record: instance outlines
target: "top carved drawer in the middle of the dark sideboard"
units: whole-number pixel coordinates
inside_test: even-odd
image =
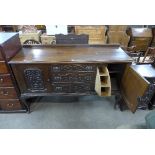
[[[92,64],[63,64],[52,65],[52,72],[93,72],[96,71],[96,66]]]

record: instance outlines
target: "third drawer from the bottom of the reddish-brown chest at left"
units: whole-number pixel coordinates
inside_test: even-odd
[[[0,87],[9,87],[12,85],[12,80],[9,74],[0,75]]]

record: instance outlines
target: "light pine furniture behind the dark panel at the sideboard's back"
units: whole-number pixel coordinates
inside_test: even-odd
[[[89,35],[89,44],[106,44],[105,26],[75,26],[75,34],[87,34]]]

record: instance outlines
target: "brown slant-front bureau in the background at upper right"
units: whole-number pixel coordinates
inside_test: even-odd
[[[129,46],[136,46],[136,51],[144,52],[151,44],[152,30],[149,28],[130,28]]]

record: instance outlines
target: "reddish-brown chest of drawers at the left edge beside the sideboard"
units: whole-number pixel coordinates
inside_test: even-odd
[[[0,32],[0,112],[26,112],[8,65],[21,48],[17,33]]]

